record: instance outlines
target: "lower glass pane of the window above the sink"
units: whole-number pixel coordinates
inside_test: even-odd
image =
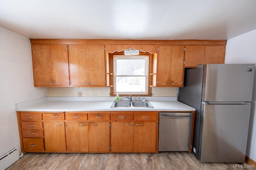
[[[116,77],[116,92],[146,92],[146,77],[145,76],[118,76]]]

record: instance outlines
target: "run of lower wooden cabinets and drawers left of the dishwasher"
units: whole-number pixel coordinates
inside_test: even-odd
[[[17,117],[22,152],[157,152],[157,111],[18,111]]]

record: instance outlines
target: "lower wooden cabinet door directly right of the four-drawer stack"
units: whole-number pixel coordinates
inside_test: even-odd
[[[64,121],[44,122],[44,144],[46,152],[66,151]]]

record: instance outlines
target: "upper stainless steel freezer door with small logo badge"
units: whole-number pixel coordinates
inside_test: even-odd
[[[251,102],[255,64],[205,64],[202,101]]]

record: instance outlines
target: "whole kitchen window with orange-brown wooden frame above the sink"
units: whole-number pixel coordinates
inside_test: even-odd
[[[108,68],[110,75],[108,86],[110,96],[152,96],[151,87],[152,57],[151,53],[124,55],[115,52],[109,55]]]

